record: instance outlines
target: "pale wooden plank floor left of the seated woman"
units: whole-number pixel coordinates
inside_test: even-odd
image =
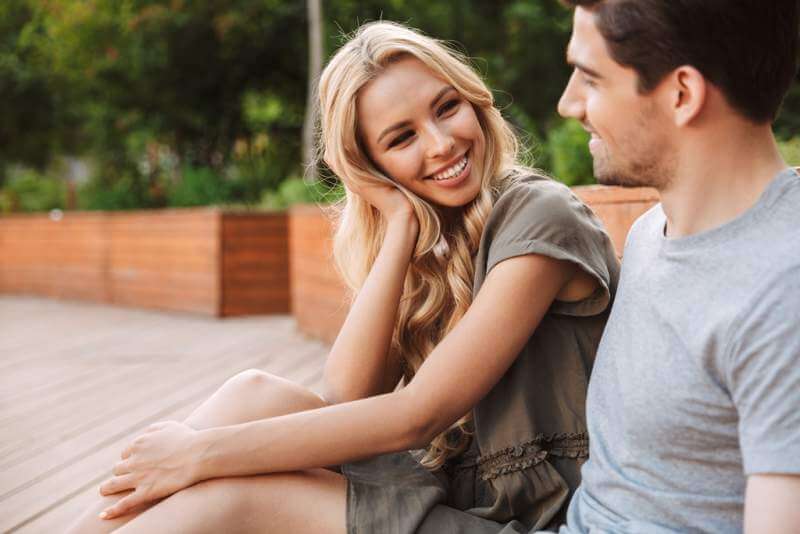
[[[288,316],[217,320],[0,296],[0,532],[59,532],[122,447],[235,373],[317,390],[327,347]]]

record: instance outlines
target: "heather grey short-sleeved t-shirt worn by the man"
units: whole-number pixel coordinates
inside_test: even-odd
[[[800,175],[713,230],[633,226],[589,384],[575,532],[738,532],[747,475],[800,474]]]

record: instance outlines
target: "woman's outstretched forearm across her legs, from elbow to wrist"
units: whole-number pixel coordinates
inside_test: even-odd
[[[401,390],[200,431],[195,448],[197,478],[333,466],[424,446],[426,428],[413,404]]]

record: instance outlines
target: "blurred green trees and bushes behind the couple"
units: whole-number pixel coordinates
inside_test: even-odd
[[[570,31],[556,0],[2,0],[0,213],[335,197],[302,178],[309,7],[320,3],[323,60],[377,19],[452,41],[529,163],[592,183],[586,133],[555,113]],[[800,164],[800,82],[775,131]]]

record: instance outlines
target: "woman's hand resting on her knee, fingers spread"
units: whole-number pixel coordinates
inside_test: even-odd
[[[155,423],[122,451],[113,478],[100,486],[101,495],[133,490],[104,510],[113,519],[143,505],[169,497],[199,482],[197,431],[176,421]]]

